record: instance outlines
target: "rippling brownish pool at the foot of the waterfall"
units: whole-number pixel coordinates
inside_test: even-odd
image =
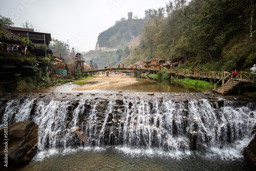
[[[52,155],[40,160],[38,157],[45,155],[45,152],[41,152],[30,164],[17,170],[249,170],[243,159],[227,160],[221,159],[221,156],[199,154],[173,157],[171,153],[154,155],[154,152],[141,155],[140,149],[131,155],[126,154],[125,150],[119,147],[84,147],[78,151],[66,149],[57,152],[53,149],[50,152]]]

